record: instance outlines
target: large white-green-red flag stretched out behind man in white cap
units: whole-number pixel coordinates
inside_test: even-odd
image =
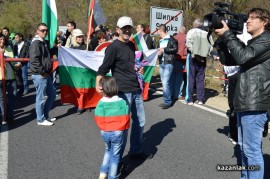
[[[61,102],[79,108],[95,107],[101,96],[96,92],[96,72],[104,59],[104,51],[85,51],[61,47],[58,51]],[[144,51],[148,66],[144,67],[144,99],[154,72],[157,50]],[[134,54],[135,55],[135,54]]]

